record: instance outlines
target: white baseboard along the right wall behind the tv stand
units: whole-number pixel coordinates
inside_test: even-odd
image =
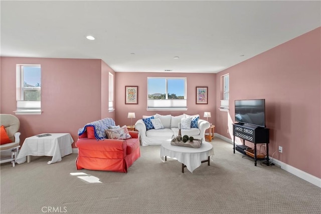
[[[231,143],[233,144],[233,141],[227,137],[224,137],[223,135],[220,135],[220,134],[217,134],[215,133],[214,134],[216,137],[228,142],[228,143]],[[272,158],[270,157],[270,160],[272,160]],[[310,182],[318,187],[321,188],[321,178],[318,178],[318,177],[315,177],[314,175],[311,175],[309,173],[306,173],[300,169],[297,169],[291,165],[288,165],[286,163],[283,163],[282,161],[279,161],[275,158],[273,158],[272,162],[275,164],[275,165],[278,165],[280,166],[281,169],[291,173],[291,174],[294,174],[295,176],[299,177],[299,178],[302,178],[303,180],[306,180],[307,182]]]

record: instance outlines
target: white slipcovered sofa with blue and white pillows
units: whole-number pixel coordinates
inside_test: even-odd
[[[182,114],[179,116],[172,116],[172,115],[153,115],[154,118],[159,118],[164,125],[164,129],[146,129],[145,122],[143,119],[139,119],[135,123],[135,129],[139,131],[141,145],[160,145],[165,140],[172,139],[172,136],[177,136],[179,129],[178,124],[181,122],[182,119],[187,117],[195,117],[199,115],[187,115]],[[143,116],[143,118],[147,118],[151,116]],[[197,128],[190,128],[190,129],[181,129],[182,136],[187,134],[188,136],[193,136],[196,139],[205,140],[205,131],[206,129],[210,128],[210,123],[206,120],[198,119]]]

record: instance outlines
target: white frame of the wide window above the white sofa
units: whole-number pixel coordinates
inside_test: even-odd
[[[148,99],[148,80],[149,79],[165,79],[166,91],[165,100],[149,100]],[[184,79],[184,99],[168,99],[168,80]],[[187,78],[186,77],[147,77],[147,111],[186,111],[187,110]]]

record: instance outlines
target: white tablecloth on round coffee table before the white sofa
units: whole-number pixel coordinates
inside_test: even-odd
[[[214,155],[213,146],[205,141],[202,142],[200,148],[173,146],[170,140],[161,145],[161,158],[163,161],[165,156],[175,157],[179,162],[184,163],[192,173],[194,169],[201,165],[201,161],[207,160],[211,155]]]

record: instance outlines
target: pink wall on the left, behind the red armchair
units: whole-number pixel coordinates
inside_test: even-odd
[[[86,123],[114,117],[108,107],[108,71],[101,60],[1,57],[1,108],[16,110],[16,64],[41,65],[41,115],[16,115],[21,141],[40,133],[69,132],[74,141]],[[107,73],[107,75],[106,75]],[[107,78],[107,83],[102,79]],[[107,88],[106,91],[102,91]],[[107,97],[107,104],[105,103]],[[104,103],[103,103],[104,102]],[[74,147],[74,145],[73,145]]]

